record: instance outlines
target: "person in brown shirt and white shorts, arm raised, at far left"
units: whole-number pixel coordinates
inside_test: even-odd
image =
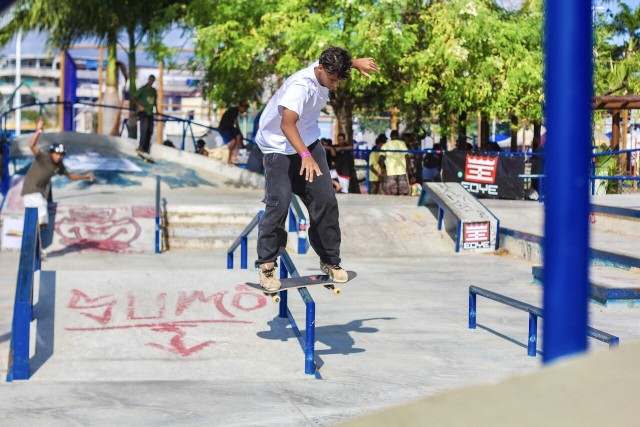
[[[52,144],[48,152],[44,152],[36,146],[43,129],[44,121],[42,118],[39,118],[36,125],[36,132],[33,134],[31,141],[29,141],[29,148],[35,158],[24,178],[21,193],[26,208],[38,208],[38,224],[40,224],[40,229],[46,228],[47,224],[49,224],[47,193],[51,185],[51,178],[54,175],[64,175],[74,181],[88,180],[93,182],[92,173],[77,175],[69,172],[67,168],[64,167],[62,158],[66,152],[63,144]],[[43,255],[46,255],[44,251]]]

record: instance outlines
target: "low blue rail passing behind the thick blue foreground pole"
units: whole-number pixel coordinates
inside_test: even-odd
[[[469,329],[476,329],[477,295],[529,313],[529,338],[527,344],[527,355],[530,357],[535,357],[537,351],[536,346],[538,343],[538,318],[544,318],[544,311],[539,307],[535,307],[531,304],[518,301],[505,295],[501,295],[487,289],[479,288],[477,286],[469,286]],[[587,328],[587,335],[591,338],[595,338],[599,341],[609,344],[610,348],[616,347],[620,343],[620,339],[618,337],[600,331],[598,329],[594,329],[590,326]]]

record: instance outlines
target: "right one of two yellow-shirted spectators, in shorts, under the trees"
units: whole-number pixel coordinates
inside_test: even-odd
[[[380,155],[380,165],[384,165],[384,180],[382,181],[382,190],[388,195],[409,194],[409,179],[407,178],[407,170],[409,168],[409,156],[407,153],[385,153],[385,150],[406,151],[407,144],[398,139],[398,131],[391,131],[391,141],[382,146]]]

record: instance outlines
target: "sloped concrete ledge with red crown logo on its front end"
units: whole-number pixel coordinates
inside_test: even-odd
[[[456,252],[497,249],[498,218],[459,183],[425,184],[421,203],[437,206],[438,228],[444,226],[454,240]]]

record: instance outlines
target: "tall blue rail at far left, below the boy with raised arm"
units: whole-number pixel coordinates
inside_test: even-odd
[[[11,324],[11,345],[7,381],[28,380],[29,342],[33,320],[34,273],[40,270],[40,229],[38,209],[27,208],[24,216],[20,265]]]

